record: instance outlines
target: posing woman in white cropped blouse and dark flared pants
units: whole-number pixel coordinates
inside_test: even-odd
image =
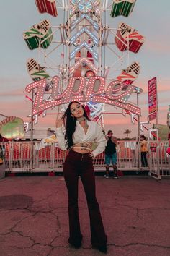
[[[63,125],[66,133],[63,133]],[[91,244],[100,252],[107,252],[107,236],[95,195],[95,179],[93,158],[102,153],[106,146],[106,139],[102,129],[94,121],[90,121],[84,106],[78,101],[68,105],[61,120],[56,121],[56,135],[58,146],[62,150],[69,150],[63,166],[63,175],[68,189],[68,216],[69,216],[69,244],[75,248],[81,247],[82,234],[79,223],[78,210],[78,180],[84,186],[89,208]],[[93,142],[97,148],[91,151]]]

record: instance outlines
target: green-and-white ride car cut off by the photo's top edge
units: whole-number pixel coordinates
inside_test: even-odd
[[[136,0],[113,0],[111,17],[117,17],[119,15],[128,17],[133,12]]]

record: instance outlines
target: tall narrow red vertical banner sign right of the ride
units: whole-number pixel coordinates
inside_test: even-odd
[[[151,80],[148,81],[148,119],[150,121],[156,119],[157,111],[157,85],[156,77],[153,77]]]

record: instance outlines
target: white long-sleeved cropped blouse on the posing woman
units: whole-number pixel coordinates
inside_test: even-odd
[[[92,151],[95,157],[105,150],[107,140],[97,122],[87,120],[87,124],[88,129],[85,134],[84,128],[81,127],[79,121],[76,121],[76,130],[73,133],[73,144],[82,142],[97,142],[97,148]],[[58,127],[56,129],[56,135],[58,138],[58,147],[62,150],[66,150],[66,140],[64,138],[65,131],[63,130],[63,127]]]

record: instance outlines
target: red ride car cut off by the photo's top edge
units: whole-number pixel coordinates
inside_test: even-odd
[[[35,0],[35,4],[40,13],[47,12],[48,14],[57,17],[58,12],[55,0]]]

